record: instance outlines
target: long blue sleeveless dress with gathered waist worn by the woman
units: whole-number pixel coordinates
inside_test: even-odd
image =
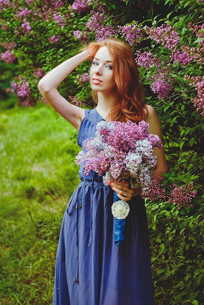
[[[78,145],[94,136],[103,120],[85,110]],[[96,172],[84,175],[62,221],[56,255],[53,305],[153,305],[147,216],[144,200],[129,201],[125,239],[114,243],[113,191]]]

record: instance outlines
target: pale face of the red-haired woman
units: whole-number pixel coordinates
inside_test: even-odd
[[[112,92],[116,87],[112,73],[112,60],[107,47],[101,47],[93,58],[90,84],[92,90],[98,92]]]

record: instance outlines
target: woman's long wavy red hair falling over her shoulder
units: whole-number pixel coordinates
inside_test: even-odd
[[[94,58],[98,49],[104,46],[108,48],[111,56],[116,83],[115,100],[106,119],[121,122],[131,120],[138,123],[146,118],[147,107],[132,49],[125,42],[114,38],[91,42],[86,48],[92,49]],[[97,92],[93,92],[93,99],[97,103]]]

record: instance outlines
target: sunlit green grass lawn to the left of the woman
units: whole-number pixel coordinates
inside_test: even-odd
[[[60,224],[79,181],[75,137],[48,105],[0,113],[0,305],[52,304]]]

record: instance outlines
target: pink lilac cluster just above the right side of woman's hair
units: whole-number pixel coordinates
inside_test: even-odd
[[[118,25],[119,33],[125,36],[127,42],[130,43],[131,46],[135,44],[135,40],[140,42],[140,39],[143,37],[141,33],[141,28],[138,26],[138,21],[135,24],[129,25]]]

